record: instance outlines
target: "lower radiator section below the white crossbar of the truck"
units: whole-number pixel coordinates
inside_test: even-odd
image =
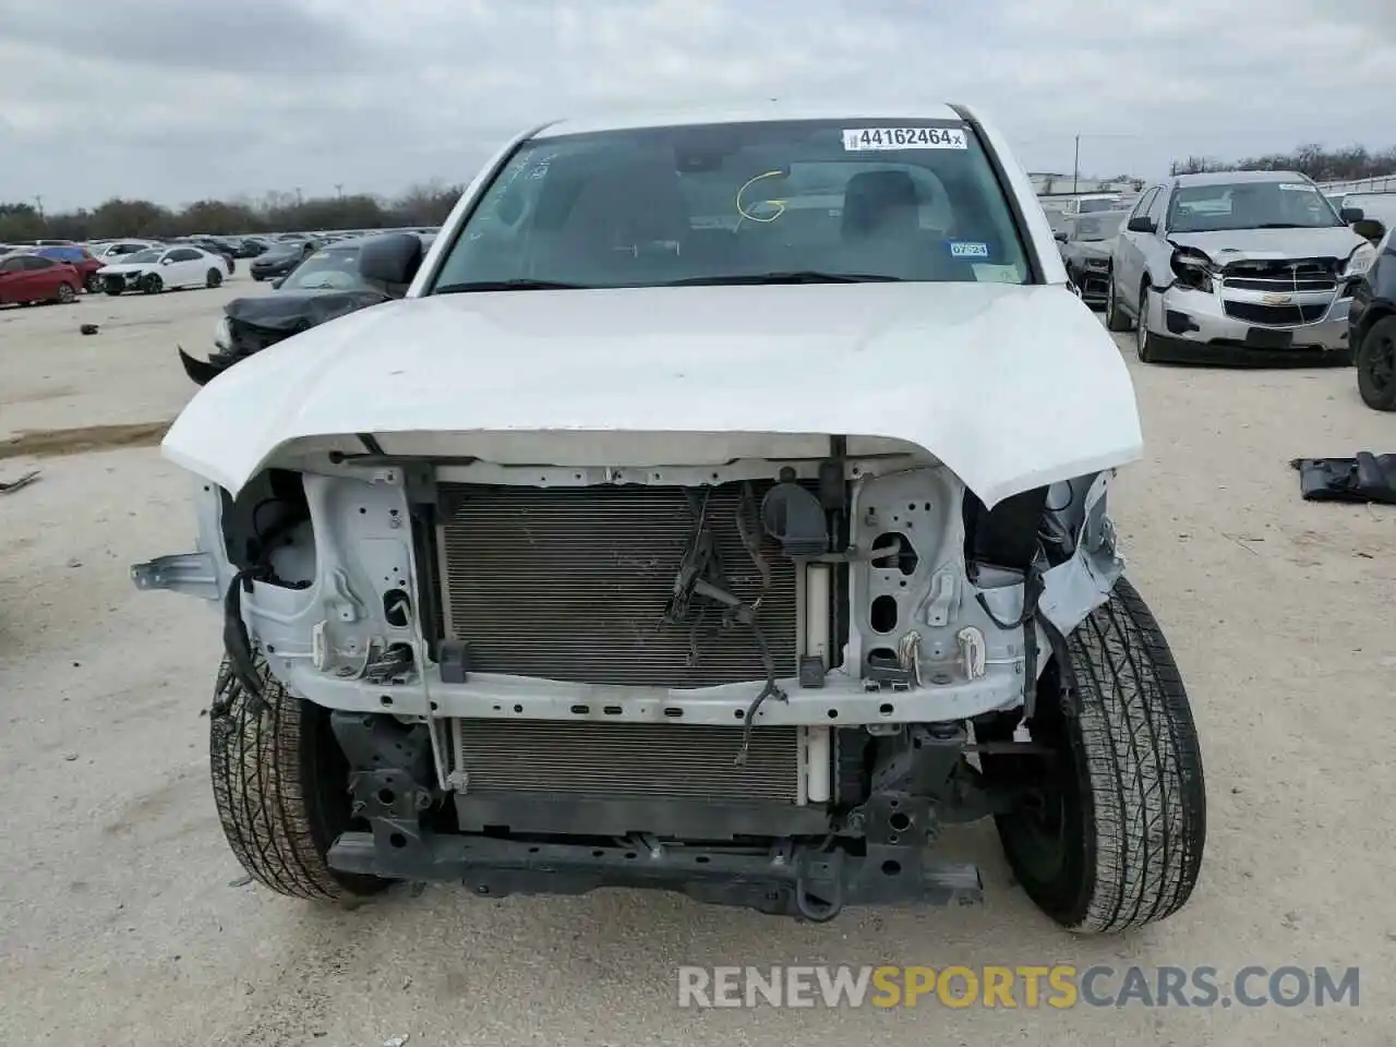
[[[799,727],[757,727],[744,766],[740,727],[455,719],[447,736],[447,771],[463,772],[468,794],[799,803]]]

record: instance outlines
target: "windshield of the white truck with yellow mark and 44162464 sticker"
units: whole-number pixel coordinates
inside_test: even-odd
[[[1023,283],[988,158],[949,121],[554,135],[484,190],[431,293],[804,281]]]

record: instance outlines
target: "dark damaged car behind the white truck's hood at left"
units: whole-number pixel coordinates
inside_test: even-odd
[[[198,385],[222,374],[239,360],[327,320],[402,297],[406,285],[369,281],[359,271],[359,253],[376,237],[325,244],[292,269],[272,281],[275,293],[233,299],[214,332],[214,352],[198,360],[181,348],[184,373]],[[433,237],[420,237],[423,248]]]

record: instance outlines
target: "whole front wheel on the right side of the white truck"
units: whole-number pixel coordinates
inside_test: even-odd
[[[1087,934],[1181,909],[1206,840],[1202,752],[1168,644],[1127,579],[1048,659],[1029,730],[1050,757],[981,757],[991,783],[1023,790],[995,822],[1027,896]]]

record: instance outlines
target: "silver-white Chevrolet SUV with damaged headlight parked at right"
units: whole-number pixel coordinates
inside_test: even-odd
[[[1146,362],[1351,363],[1349,307],[1374,255],[1302,174],[1180,174],[1129,214],[1106,322],[1134,325]]]

